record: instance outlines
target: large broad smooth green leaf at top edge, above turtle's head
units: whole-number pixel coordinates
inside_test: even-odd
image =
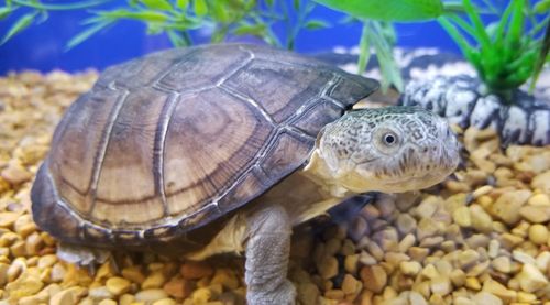
[[[421,21],[443,14],[441,0],[314,0],[361,19]]]

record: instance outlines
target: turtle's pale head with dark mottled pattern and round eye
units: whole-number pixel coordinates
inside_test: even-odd
[[[324,127],[316,152],[324,178],[354,193],[403,193],[443,181],[457,167],[448,122],[419,107],[348,112]]]

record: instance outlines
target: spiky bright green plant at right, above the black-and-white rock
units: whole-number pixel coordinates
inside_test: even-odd
[[[492,11],[497,11],[485,1]],[[475,67],[488,92],[512,102],[512,91],[532,78],[531,89],[544,62],[548,62],[550,17],[540,21],[538,13],[548,12],[550,1],[536,7],[528,0],[512,0],[499,13],[499,20],[485,25],[471,0],[463,0],[466,18],[447,15],[439,23]]]

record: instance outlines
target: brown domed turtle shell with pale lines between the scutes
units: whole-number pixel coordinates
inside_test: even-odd
[[[32,188],[69,242],[172,240],[250,203],[307,161],[374,80],[266,46],[154,53],[106,69],[67,110]]]

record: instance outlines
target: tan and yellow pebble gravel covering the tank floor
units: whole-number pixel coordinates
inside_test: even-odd
[[[37,165],[64,109],[96,78],[0,78],[0,304],[244,304],[242,258],[117,253],[89,273],[59,261],[56,240],[33,224]],[[300,304],[550,304],[550,146],[502,150],[493,130],[457,132],[464,162],[442,185],[295,230]]]

